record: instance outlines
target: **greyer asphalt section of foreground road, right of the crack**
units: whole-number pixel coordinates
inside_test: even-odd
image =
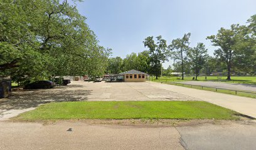
[[[226,124],[178,128],[185,149],[240,150],[256,148],[256,126]]]

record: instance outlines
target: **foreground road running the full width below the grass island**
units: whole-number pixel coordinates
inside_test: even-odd
[[[182,126],[0,121],[0,149],[255,149],[256,124],[216,121]],[[67,131],[72,128],[72,131]]]

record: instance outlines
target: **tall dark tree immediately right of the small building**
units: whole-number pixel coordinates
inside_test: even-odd
[[[158,79],[161,74],[161,64],[168,61],[169,51],[167,49],[166,40],[162,36],[156,37],[155,43],[153,36],[149,36],[143,41],[144,46],[149,48],[149,61],[151,66],[151,73]]]

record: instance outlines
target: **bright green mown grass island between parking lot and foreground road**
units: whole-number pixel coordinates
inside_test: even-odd
[[[238,119],[235,114],[203,101],[83,101],[43,104],[13,119]]]

